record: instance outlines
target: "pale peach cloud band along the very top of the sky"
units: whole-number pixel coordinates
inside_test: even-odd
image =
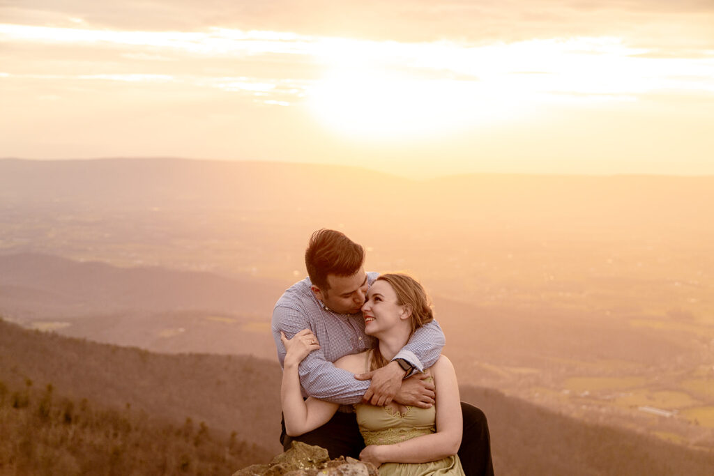
[[[231,29],[469,43],[620,36],[635,44],[714,49],[710,0],[14,0],[8,23],[134,31]]]

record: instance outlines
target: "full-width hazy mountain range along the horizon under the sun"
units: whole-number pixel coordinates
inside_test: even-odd
[[[441,222],[453,213],[488,218],[691,218],[711,203],[714,176],[557,176],[471,173],[416,181],[366,168],[175,158],[26,161],[0,159],[0,203],[147,210],[298,208],[366,216],[371,207]],[[448,208],[445,206],[448,205]],[[347,208],[346,208],[347,207]],[[386,207],[386,208],[385,208]],[[527,207],[528,210],[523,208]],[[527,213],[523,213],[527,212]],[[678,213],[675,215],[674,213]],[[684,216],[682,216],[684,214]],[[565,225],[565,223],[563,223]]]

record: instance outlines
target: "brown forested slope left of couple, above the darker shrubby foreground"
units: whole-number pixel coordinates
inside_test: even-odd
[[[280,449],[277,363],[249,356],[163,355],[25,330],[0,321],[0,380],[52,385],[76,402],[125,408]]]

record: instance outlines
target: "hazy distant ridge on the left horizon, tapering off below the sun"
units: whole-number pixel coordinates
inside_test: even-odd
[[[342,180],[336,180],[341,178]],[[0,201],[85,203],[88,207],[258,208],[307,205],[334,196],[337,203],[366,198],[363,186],[387,191],[411,181],[362,168],[302,163],[100,159],[0,159]],[[306,186],[312,184],[313,186]],[[336,203],[322,203],[334,208]]]

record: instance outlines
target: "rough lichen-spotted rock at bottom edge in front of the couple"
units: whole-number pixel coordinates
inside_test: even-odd
[[[351,457],[331,460],[327,450],[319,446],[293,441],[293,446],[277,455],[267,465],[251,465],[233,476],[378,476],[371,463]]]

